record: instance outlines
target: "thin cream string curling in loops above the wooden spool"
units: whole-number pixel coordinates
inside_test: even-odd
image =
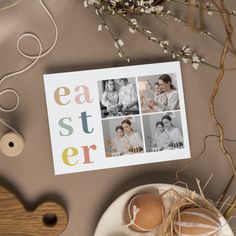
[[[6,10],[6,9],[9,9],[13,6],[16,6],[17,4],[19,4],[22,0],[19,0],[17,2],[15,2],[14,4],[12,5],[9,5],[7,7],[4,7],[4,8],[1,8],[1,10]],[[50,18],[50,20],[52,21],[53,25],[54,25],[54,28],[55,28],[55,38],[53,40],[53,43],[52,45],[45,51],[43,52],[43,46],[42,46],[42,42],[40,40],[40,38],[33,34],[33,33],[24,33],[22,34],[18,40],[17,40],[17,50],[18,52],[24,57],[24,58],[27,58],[27,59],[33,59],[33,61],[27,65],[26,67],[24,67],[23,69],[21,70],[18,70],[18,71],[15,71],[15,72],[12,72],[10,74],[7,74],[5,76],[3,76],[1,79],[0,79],[0,87],[1,85],[3,84],[4,81],[6,81],[7,79],[13,77],[13,76],[16,76],[16,75],[20,75],[26,71],[28,71],[29,69],[31,69],[37,62],[40,58],[48,55],[52,50],[53,48],[55,47],[57,41],[58,41],[58,27],[57,27],[57,24],[56,24],[56,21],[54,20],[52,14],[50,14],[49,10],[47,9],[47,7],[44,5],[44,3],[42,2],[42,0],[38,0],[40,5],[42,6],[42,8],[44,9],[44,11],[46,12],[46,14],[48,15],[48,17]],[[29,54],[26,54],[21,48],[20,48],[20,42],[24,39],[24,38],[32,38],[34,40],[36,40],[37,44],[38,44],[38,47],[39,47],[39,52],[38,54],[36,55],[29,55]],[[0,91],[0,96],[3,95],[3,94],[6,94],[6,93],[12,93],[15,95],[16,97],[16,103],[13,107],[10,107],[10,108],[5,108],[4,106],[0,105],[0,111],[4,111],[4,112],[12,112],[14,110],[16,110],[19,106],[19,102],[20,102],[20,96],[18,94],[17,91],[15,91],[14,89],[11,89],[11,88],[7,88],[7,89],[3,89],[2,91]],[[3,119],[0,118],[0,123],[2,123],[4,126],[6,126],[7,128],[11,129],[13,132],[17,133],[18,132],[12,127],[10,126],[9,124],[7,124],[5,121],[3,121]]]

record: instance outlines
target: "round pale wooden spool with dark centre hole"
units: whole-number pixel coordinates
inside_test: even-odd
[[[9,157],[18,156],[24,149],[24,138],[13,131],[4,134],[0,140],[2,153]]]

